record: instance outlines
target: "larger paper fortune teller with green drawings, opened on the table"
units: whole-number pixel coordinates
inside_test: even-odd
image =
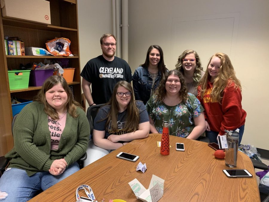
[[[163,196],[164,180],[152,175],[149,189],[146,189],[136,178],[128,183],[136,198],[144,202],[157,202]]]

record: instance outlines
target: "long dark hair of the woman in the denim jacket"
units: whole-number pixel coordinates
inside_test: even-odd
[[[156,48],[160,52],[160,61],[158,63],[158,71],[161,72],[161,76],[163,77],[163,75],[165,75],[165,73],[166,73],[166,67],[165,67],[164,60],[163,60],[163,50],[162,50],[161,46],[159,46],[159,45],[149,46],[149,49],[148,49],[147,55],[146,55],[145,63],[141,64],[140,66],[142,66],[143,68],[149,67],[149,53],[150,53],[150,51],[152,51],[153,48]]]

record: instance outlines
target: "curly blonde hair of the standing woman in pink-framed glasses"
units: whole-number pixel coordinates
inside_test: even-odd
[[[182,59],[184,59],[186,57],[187,54],[191,54],[193,53],[195,56],[195,60],[196,60],[196,66],[194,69],[194,76],[193,76],[193,80],[198,83],[201,79],[201,72],[203,71],[203,67],[201,64],[201,60],[199,55],[197,54],[196,51],[194,50],[186,50],[184,51],[179,57],[178,57],[178,63],[176,64],[176,69],[178,71],[180,71],[183,75],[184,75],[184,69],[182,68]]]

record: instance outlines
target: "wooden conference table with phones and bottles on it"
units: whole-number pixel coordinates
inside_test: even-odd
[[[137,180],[148,189],[152,174],[161,177],[164,193],[161,201],[260,201],[255,171],[250,158],[238,152],[237,169],[247,169],[252,178],[228,178],[223,173],[224,160],[215,159],[214,150],[207,143],[170,136],[170,154],[163,156],[157,141],[161,134],[134,140],[93,162],[80,171],[57,183],[31,200],[76,201],[79,185],[89,185],[97,201],[123,199],[140,201],[132,192],[129,182]],[[176,142],[185,144],[185,151],[176,151]],[[116,158],[119,152],[140,156],[136,162]],[[146,163],[145,173],[136,171],[139,162]],[[86,196],[83,190],[80,196]]]

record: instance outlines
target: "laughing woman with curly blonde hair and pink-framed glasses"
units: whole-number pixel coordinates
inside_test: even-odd
[[[186,50],[178,57],[176,69],[183,74],[187,91],[197,96],[197,86],[204,76],[199,55],[194,50]]]

